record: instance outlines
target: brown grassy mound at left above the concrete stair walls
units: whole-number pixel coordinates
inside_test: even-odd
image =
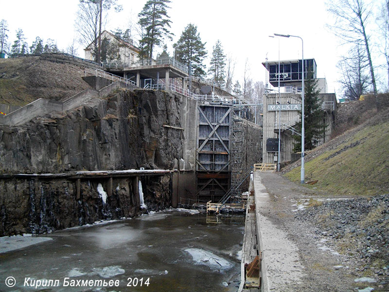
[[[0,103],[24,106],[38,98],[65,100],[89,88],[93,69],[54,63],[39,56],[0,59]]]

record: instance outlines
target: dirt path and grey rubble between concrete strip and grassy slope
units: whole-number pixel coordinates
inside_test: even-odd
[[[299,248],[299,291],[389,291],[389,195],[339,198],[261,173],[268,217]]]

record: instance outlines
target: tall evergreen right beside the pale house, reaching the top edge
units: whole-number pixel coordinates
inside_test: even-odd
[[[138,14],[139,24],[143,30],[141,45],[141,57],[151,59],[155,46],[159,46],[167,37],[172,40],[173,34],[169,32],[172,22],[167,15],[167,3],[170,0],[148,0],[144,4],[142,11]]]

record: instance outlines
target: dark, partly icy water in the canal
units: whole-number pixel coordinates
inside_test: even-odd
[[[45,236],[52,240],[0,254],[0,291],[237,291],[244,220],[215,221],[164,211],[55,232]],[[12,288],[8,276],[16,280]],[[29,286],[59,285],[35,289],[26,279]],[[96,280],[115,284],[94,286]],[[77,286],[82,281],[93,284]]]

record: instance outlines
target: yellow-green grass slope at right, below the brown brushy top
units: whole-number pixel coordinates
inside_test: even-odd
[[[305,164],[305,181],[318,180],[312,187],[338,195],[388,193],[388,116],[387,112],[381,112],[354,130],[336,137],[344,141]],[[298,183],[300,170],[300,167],[295,167],[285,176]]]

